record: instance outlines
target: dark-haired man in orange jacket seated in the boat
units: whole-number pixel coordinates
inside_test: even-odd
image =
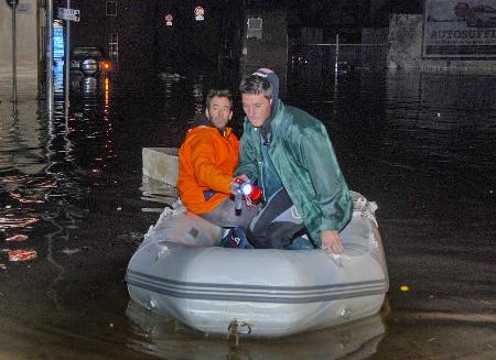
[[[188,211],[224,228],[246,228],[257,211],[245,203],[236,211],[229,198],[239,160],[239,140],[227,127],[231,118],[230,91],[212,89],[205,116],[196,114],[179,151],[177,189]]]

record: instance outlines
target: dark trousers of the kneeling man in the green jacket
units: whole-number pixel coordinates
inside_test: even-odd
[[[303,233],[303,220],[282,187],[252,219],[247,237],[258,249],[288,249]]]

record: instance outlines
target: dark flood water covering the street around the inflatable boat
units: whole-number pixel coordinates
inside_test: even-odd
[[[289,74],[285,102],[327,126],[349,187],[379,206],[379,315],[235,347],[130,304],[127,263],[175,196],[142,177],[141,149],[177,146],[209,86],[236,86],[223,76],[110,79],[52,120],[30,94],[14,119],[2,79],[0,359],[496,358],[496,75]]]

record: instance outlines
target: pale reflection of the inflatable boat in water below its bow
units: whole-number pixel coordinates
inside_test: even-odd
[[[379,315],[321,331],[281,339],[241,338],[238,347],[225,337],[208,337],[172,318],[152,314],[130,302],[127,316],[133,334],[127,346],[159,358],[188,359],[366,359],[385,335]]]

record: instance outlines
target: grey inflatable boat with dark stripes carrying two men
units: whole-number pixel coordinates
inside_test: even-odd
[[[377,206],[352,196],[339,255],[220,248],[222,228],[166,208],[129,262],[129,294],[208,334],[281,337],[377,314],[389,287]]]

